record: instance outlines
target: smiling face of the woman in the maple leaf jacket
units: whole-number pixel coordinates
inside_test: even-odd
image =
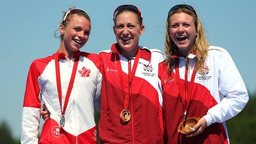
[[[84,16],[73,14],[68,25],[60,25],[59,31],[63,34],[62,43],[64,44],[60,49],[64,49],[68,53],[73,53],[82,48],[89,39],[91,32],[91,22]]]

